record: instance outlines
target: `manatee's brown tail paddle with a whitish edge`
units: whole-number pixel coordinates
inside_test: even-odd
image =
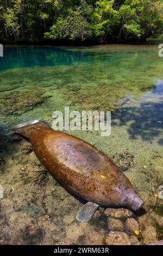
[[[28,123],[19,124],[17,126],[12,127],[18,135],[25,137],[26,139],[30,139],[33,131],[35,129],[49,128],[49,125],[43,120],[33,120]]]

